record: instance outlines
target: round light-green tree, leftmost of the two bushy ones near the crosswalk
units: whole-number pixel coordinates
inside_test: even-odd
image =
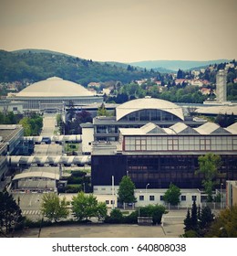
[[[60,199],[55,193],[45,194],[41,211],[47,219],[54,220],[55,222],[62,218],[66,219],[69,214],[66,197]]]

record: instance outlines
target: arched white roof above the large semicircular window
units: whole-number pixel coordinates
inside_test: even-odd
[[[181,120],[184,120],[183,112],[180,106],[170,102],[164,101],[160,99],[153,99],[153,98],[143,98],[137,99],[133,101],[125,102],[119,105],[116,109],[116,118],[117,121],[124,117],[125,115],[131,112],[137,112],[140,110],[160,110],[164,112],[170,112],[178,116]]]

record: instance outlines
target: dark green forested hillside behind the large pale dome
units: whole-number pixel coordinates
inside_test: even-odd
[[[118,67],[50,51],[7,52],[0,50],[0,82],[15,80],[35,82],[57,76],[86,86],[91,81],[119,80],[127,83],[154,75],[156,73],[153,71],[136,69],[131,66]]]

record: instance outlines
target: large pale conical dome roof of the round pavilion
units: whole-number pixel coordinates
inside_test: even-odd
[[[16,94],[16,97],[77,97],[93,96],[83,86],[57,77],[41,80],[31,84]]]

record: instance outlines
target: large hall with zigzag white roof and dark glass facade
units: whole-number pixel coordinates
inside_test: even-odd
[[[175,123],[161,128],[147,123],[140,128],[119,129],[119,143],[94,143],[91,153],[92,186],[102,190],[118,186],[122,176],[130,176],[137,188],[201,188],[196,175],[200,155],[221,155],[221,176],[217,184],[237,179],[237,123],[222,128],[204,123],[192,128]]]

